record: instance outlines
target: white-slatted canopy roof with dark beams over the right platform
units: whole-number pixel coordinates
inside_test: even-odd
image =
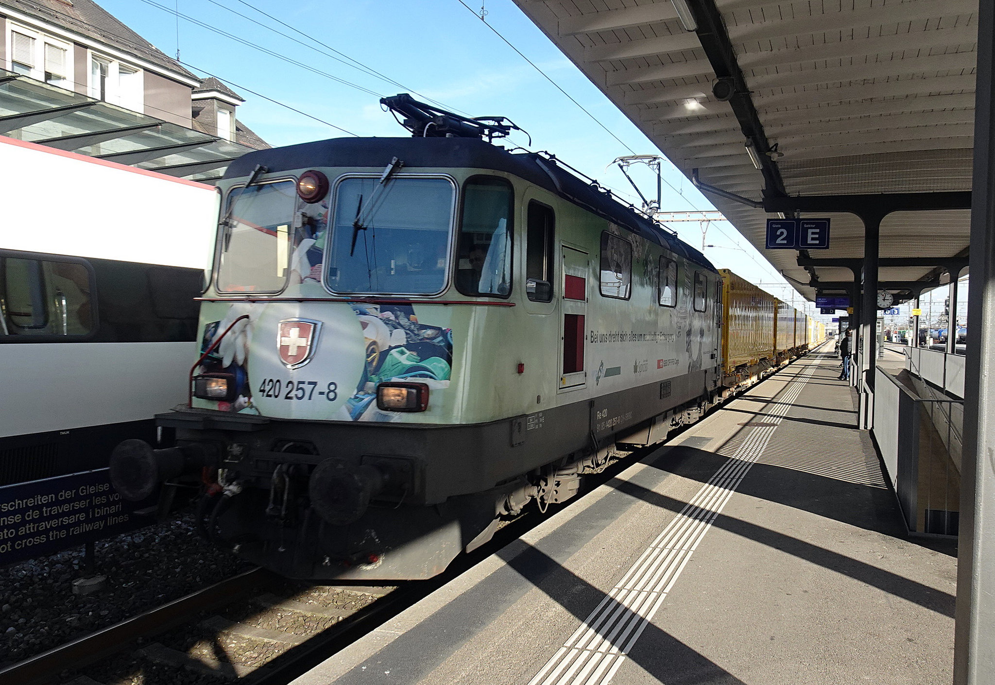
[[[807,297],[855,262],[799,258],[864,256],[845,210],[875,198],[846,196],[902,209],[881,223],[881,281],[966,257],[978,0],[515,2],[689,178],[762,202],[706,193]],[[798,197],[802,218],[832,219],[830,248],[765,250],[766,219]]]

